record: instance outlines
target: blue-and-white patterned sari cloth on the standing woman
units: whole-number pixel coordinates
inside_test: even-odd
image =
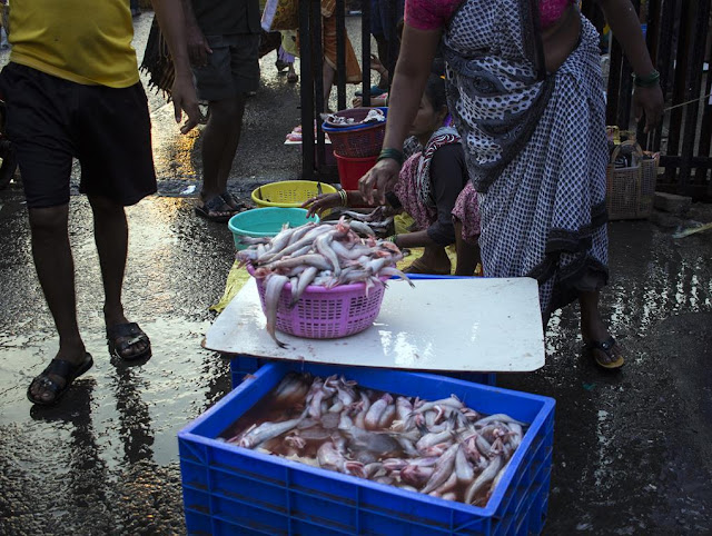
[[[551,86],[541,99],[532,93],[534,86],[516,86],[517,80],[531,81],[534,76],[533,70],[512,67],[526,66],[531,53],[522,41],[522,24],[503,26],[506,20],[496,11],[513,9],[515,3],[468,0],[455,16],[445,36],[451,56],[457,47],[461,60],[469,64],[469,75],[475,72],[472,58],[482,58],[475,62],[477,79],[472,83],[462,61],[454,69],[448,66],[448,80],[455,88],[449,92],[449,109],[478,191],[484,274],[535,277],[542,311],[548,316],[574,300],[578,291],[597,290],[607,282],[607,146],[599,34],[582,18],[577,48],[547,81],[536,82],[542,92]],[[516,16],[512,9],[508,17]],[[465,17],[471,20],[463,20]],[[467,50],[471,59],[465,56]],[[502,57],[487,59],[485,51]],[[538,109],[542,101],[545,106]],[[488,136],[481,125],[493,118],[498,130]],[[511,121],[534,126],[523,147],[512,141],[518,133],[516,128],[508,129]],[[487,175],[488,165],[497,158],[506,160],[512,148],[516,151],[506,166]]]

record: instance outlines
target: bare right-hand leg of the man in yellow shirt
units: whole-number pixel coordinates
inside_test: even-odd
[[[128,319],[123,315],[121,302],[129,241],[126,212],[121,205],[107,197],[89,196],[89,204],[93,211],[93,237],[103,280],[103,318],[107,327],[126,324]],[[139,340],[122,354],[130,358],[131,355],[140,354],[147,347],[147,343]]]

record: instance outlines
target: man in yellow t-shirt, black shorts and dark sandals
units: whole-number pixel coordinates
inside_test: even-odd
[[[176,64],[172,88],[181,131],[200,119],[179,0],[154,0]],[[123,207],[156,191],[150,119],[139,82],[134,27],[126,0],[13,0],[12,53],[0,73],[7,133],[18,157],[32,255],[59,335],[59,350],[30,384],[33,404],[50,405],[91,368],[77,324],[69,246],[72,158],[93,212],[105,288],[107,341],[117,359],[150,357],[148,337],[123,314],[121,287],[128,248]]]

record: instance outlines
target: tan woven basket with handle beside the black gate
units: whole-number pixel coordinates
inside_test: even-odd
[[[625,146],[633,147],[637,165],[616,168],[614,162]],[[643,159],[643,155],[641,146],[635,141],[624,141],[613,149],[606,169],[605,204],[610,220],[644,219],[651,215],[655,198],[657,159]]]

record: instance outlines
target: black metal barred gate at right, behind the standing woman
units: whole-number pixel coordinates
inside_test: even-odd
[[[711,0],[632,0],[646,24],[645,40],[653,63],[660,70],[665,96],[663,122],[654,132],[636,139],[647,150],[660,151],[664,175],[657,190],[712,201],[712,77],[705,57],[712,61],[710,42]],[[641,11],[641,3],[643,9]],[[584,0],[583,12],[599,29],[603,16],[595,2]],[[621,46],[613,39],[607,87],[607,125],[635,129],[632,117],[632,70]]]

